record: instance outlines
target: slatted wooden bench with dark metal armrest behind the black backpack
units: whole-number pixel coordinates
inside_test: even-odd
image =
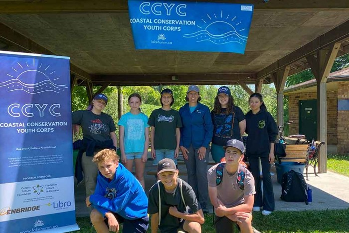
[[[306,177],[308,179],[308,167],[312,165],[314,167],[314,174],[318,176],[316,173],[316,166],[319,162],[319,149],[321,145],[325,144],[325,142],[316,141],[316,149],[311,150],[309,148],[310,141],[307,139],[297,139],[285,137],[286,145],[286,157],[280,158],[281,163],[284,162],[298,162],[304,163],[306,167]]]

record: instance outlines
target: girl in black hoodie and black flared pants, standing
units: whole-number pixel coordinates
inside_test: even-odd
[[[270,176],[270,164],[274,163],[274,142],[278,134],[278,127],[274,118],[267,111],[263,97],[253,93],[249,99],[251,110],[246,114],[246,143],[247,158],[250,163],[251,173],[254,177],[256,195],[254,197],[253,211],[270,215],[275,208],[273,184]],[[259,171],[259,158],[263,174],[263,198]]]

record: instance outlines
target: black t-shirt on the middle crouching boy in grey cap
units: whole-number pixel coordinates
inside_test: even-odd
[[[159,218],[161,218],[161,224],[159,229],[161,232],[168,232],[172,229],[177,229],[179,226],[180,219],[170,215],[169,209],[174,206],[181,213],[186,211],[186,207],[182,201],[180,195],[179,181],[177,178],[177,187],[174,189],[172,193],[167,193],[165,191],[164,185],[160,182],[160,197],[161,197],[161,214],[159,214]],[[182,182],[182,192],[185,204],[190,208],[190,210],[195,213],[201,210],[200,204],[197,202],[196,196],[192,188],[183,180]],[[158,185],[155,184],[149,190],[149,198],[148,198],[148,214],[153,215],[159,213],[159,189]]]

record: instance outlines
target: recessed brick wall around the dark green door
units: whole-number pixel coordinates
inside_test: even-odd
[[[317,99],[316,92],[289,95],[289,134],[299,133],[299,100]],[[337,91],[327,92],[327,144],[337,145]]]

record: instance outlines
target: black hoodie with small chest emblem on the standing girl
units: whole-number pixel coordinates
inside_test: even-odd
[[[274,143],[278,135],[278,126],[271,114],[261,108],[257,114],[252,110],[246,113],[246,152],[248,157],[268,157],[270,143]]]

